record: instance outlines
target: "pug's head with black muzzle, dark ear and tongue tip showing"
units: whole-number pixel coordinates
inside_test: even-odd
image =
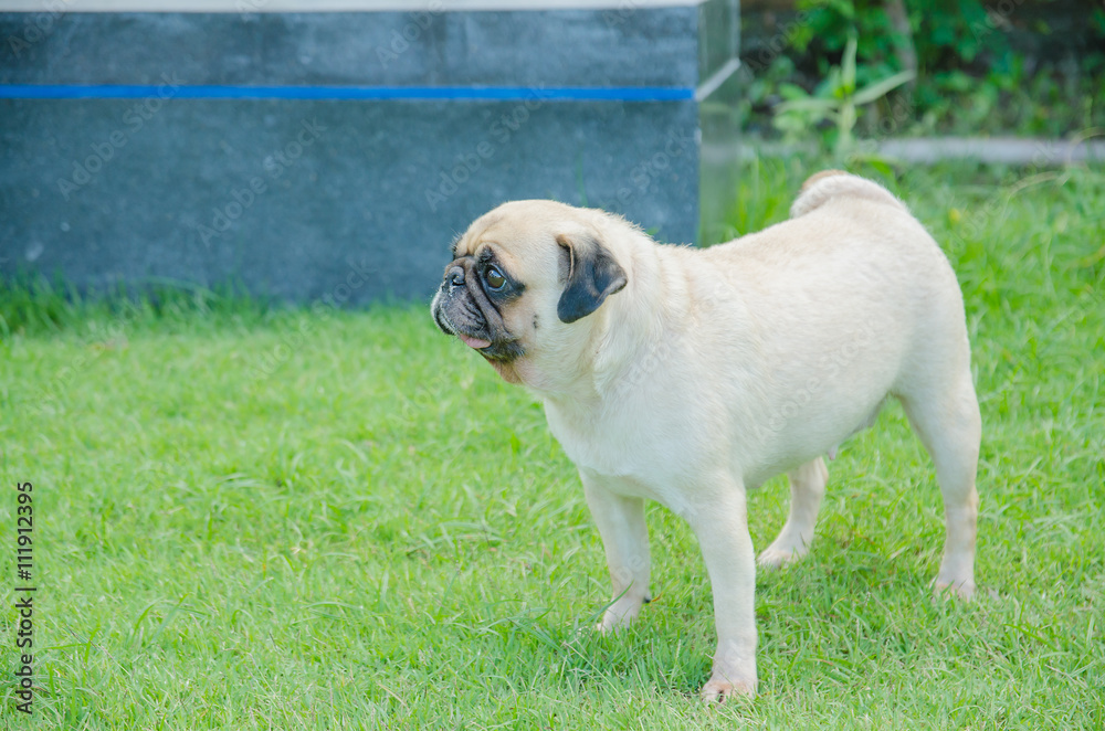
[[[433,298],[438,327],[507,381],[540,388],[536,381],[558,359],[578,357],[589,341],[585,318],[627,284],[625,269],[593,225],[596,215],[602,214],[516,201],[477,219],[454,244]]]

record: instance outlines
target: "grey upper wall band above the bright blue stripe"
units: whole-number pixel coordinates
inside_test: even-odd
[[[66,13],[0,46],[0,84],[694,86],[697,10]],[[27,34],[0,13],[0,39]]]

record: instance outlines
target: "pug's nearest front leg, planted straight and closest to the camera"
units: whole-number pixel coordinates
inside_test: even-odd
[[[717,651],[702,696],[716,701],[730,695],[754,696],[756,557],[748,534],[744,487],[732,481],[718,486],[708,501],[686,517],[706,560],[717,627]]]

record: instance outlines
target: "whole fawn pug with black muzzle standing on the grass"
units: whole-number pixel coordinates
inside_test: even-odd
[[[939,246],[881,186],[810,178],[791,218],[708,248],[624,219],[505,203],[453,245],[438,327],[544,402],[606,548],[617,629],[649,595],[645,500],[686,519],[709,575],[717,649],[704,698],[755,695],[757,559],[746,495],[790,481],[764,569],[810,550],[833,456],[902,402],[935,464],[937,591],[975,591],[981,419],[962,296]]]

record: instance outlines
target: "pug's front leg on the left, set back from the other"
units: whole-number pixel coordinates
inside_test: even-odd
[[[600,632],[618,629],[641,613],[649,601],[649,528],[644,522],[644,500],[614,492],[609,478],[580,470],[591,516],[599,527],[607,551],[612,604],[599,622]]]

